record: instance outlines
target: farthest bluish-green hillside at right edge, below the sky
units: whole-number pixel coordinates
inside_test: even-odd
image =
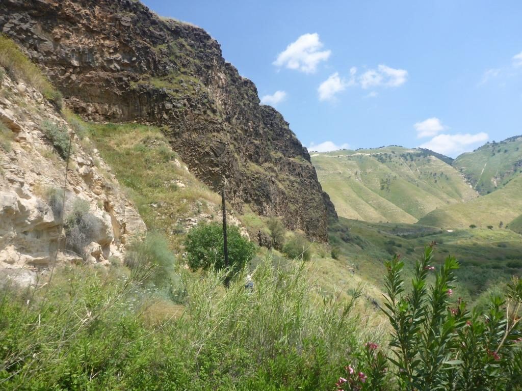
[[[522,173],[521,147],[522,136],[491,142],[473,152],[461,154],[453,166],[480,194],[488,194]]]

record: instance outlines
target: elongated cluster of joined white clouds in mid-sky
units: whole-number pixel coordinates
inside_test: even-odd
[[[349,78],[342,78],[339,76],[339,72],[335,72],[319,85],[317,92],[320,101],[328,101],[334,100],[337,93],[346,90],[350,85],[360,85],[364,90],[375,87],[399,87],[406,83],[407,79],[407,70],[394,69],[383,64],[379,65],[377,69],[365,71],[359,77],[357,68],[351,67]],[[374,97],[377,96],[377,93],[372,91],[367,96]]]

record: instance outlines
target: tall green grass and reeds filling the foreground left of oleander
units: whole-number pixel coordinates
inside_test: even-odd
[[[314,301],[305,266],[267,257],[244,286],[187,273],[182,313],[113,272],[73,268],[52,284],[0,296],[1,389],[331,389],[357,351],[355,304]],[[119,278],[119,279],[118,279]],[[151,303],[155,303],[152,306]],[[170,306],[170,307],[169,307]]]

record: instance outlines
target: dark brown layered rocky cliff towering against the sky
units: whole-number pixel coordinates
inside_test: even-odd
[[[130,0],[4,0],[0,31],[80,115],[163,126],[200,179],[217,190],[226,177],[237,210],[248,203],[327,240],[335,209],[310,155],[204,30]]]

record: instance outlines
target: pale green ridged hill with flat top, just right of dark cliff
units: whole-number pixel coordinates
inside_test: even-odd
[[[437,207],[478,195],[427,150],[388,146],[311,156],[323,189],[347,218],[414,223]]]

